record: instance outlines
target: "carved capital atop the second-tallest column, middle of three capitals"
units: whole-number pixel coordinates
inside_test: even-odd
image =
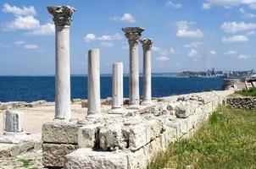
[[[142,27],[125,27],[122,30],[125,32],[125,37],[128,39],[130,46],[134,46],[140,40],[144,29]]]

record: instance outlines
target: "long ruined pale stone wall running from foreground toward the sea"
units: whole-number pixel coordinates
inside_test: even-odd
[[[42,127],[45,166],[147,168],[170,142],[192,136],[233,90],[164,97],[124,115],[103,114],[82,122]]]

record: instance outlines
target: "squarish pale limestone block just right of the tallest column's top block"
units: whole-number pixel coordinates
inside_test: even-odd
[[[78,146],[79,148],[93,148],[97,143],[97,134],[99,124],[90,124],[78,128]]]

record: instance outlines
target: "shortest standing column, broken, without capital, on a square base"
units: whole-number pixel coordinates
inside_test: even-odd
[[[123,63],[114,63],[112,76],[112,109],[110,113],[122,113],[123,103]]]

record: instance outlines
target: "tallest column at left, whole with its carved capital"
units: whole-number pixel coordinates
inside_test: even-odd
[[[69,120],[70,110],[70,22],[75,8],[47,7],[55,24],[55,117]]]

